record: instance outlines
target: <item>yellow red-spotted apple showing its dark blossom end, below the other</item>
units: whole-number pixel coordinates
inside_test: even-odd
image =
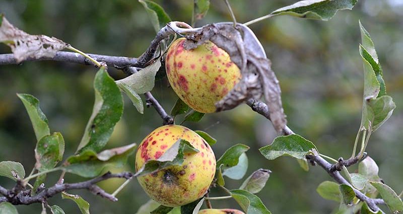
[[[198,153],[185,153],[181,166],[170,166],[140,176],[146,193],[162,205],[181,206],[205,195],[216,173],[216,158],[210,145],[194,131],[180,125],[165,125],[143,139],[136,154],[136,171],[148,160],[157,160],[178,139],[185,139]]]

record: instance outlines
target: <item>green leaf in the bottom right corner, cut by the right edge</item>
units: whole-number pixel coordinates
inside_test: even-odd
[[[399,196],[397,196],[396,192],[393,191],[393,189],[381,182],[371,181],[370,183],[378,190],[379,194],[382,196],[392,213],[399,213],[403,211],[403,202]]]

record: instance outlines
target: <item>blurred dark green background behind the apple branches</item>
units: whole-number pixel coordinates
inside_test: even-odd
[[[156,1],[172,20],[190,23],[192,2]],[[290,5],[290,0],[230,1],[238,22],[246,22]],[[312,140],[318,150],[338,158],[351,155],[360,125],[363,65],[358,47],[361,41],[358,21],[369,31],[383,67],[389,95],[396,103],[393,116],[370,140],[368,154],[378,163],[380,176],[396,192],[403,189],[403,2],[400,0],[359,1],[353,11],[340,11],[328,22],[275,17],[254,24],[251,29],[262,42],[281,83],[283,104],[289,126]],[[62,39],[87,53],[139,56],[154,38],[155,32],[143,6],[137,1],[0,0],[0,13],[20,29]],[[197,26],[229,21],[224,1],[212,1],[210,11]],[[0,53],[10,49],[0,45]],[[28,114],[16,93],[29,93],[41,101],[51,131],[60,131],[66,142],[65,155],[72,155],[82,137],[92,111],[92,81],[96,69],[91,66],[53,61],[24,62],[0,66],[0,161],[21,162],[27,174],[35,159],[35,135]],[[123,74],[111,69],[118,79]],[[152,91],[170,110],[177,97],[165,79]],[[144,97],[143,97],[144,98]],[[140,142],[162,121],[153,108],[139,114],[125,97],[124,115],[115,127],[108,147]],[[273,171],[264,189],[257,195],[273,213],[330,213],[336,202],[322,199],[317,185],[331,178],[319,167],[303,171],[292,158],[265,160],[258,148],[270,144],[276,132],[271,123],[246,105],[231,111],[206,115],[199,123],[184,125],[205,130],[218,139],[213,146],[219,158],[230,146],[241,142],[250,146],[248,174],[258,168]],[[123,170],[133,171],[134,157]],[[117,172],[121,169],[111,169]],[[354,172],[352,168],[350,172]],[[59,173],[47,178],[54,183]],[[246,176],[245,176],[246,177]],[[66,182],[83,180],[67,175]],[[112,192],[122,180],[102,182]],[[13,182],[0,177],[3,186]],[[242,181],[227,179],[228,188]],[[148,200],[136,180],[121,193],[118,202],[110,202],[85,190],[71,191],[91,204],[92,213],[135,213]],[[220,195],[213,191],[211,195]],[[79,213],[71,200],[59,195],[49,203],[60,205],[66,213]],[[233,200],[212,201],[214,207],[239,208]],[[40,213],[40,204],[17,207],[20,213]]]

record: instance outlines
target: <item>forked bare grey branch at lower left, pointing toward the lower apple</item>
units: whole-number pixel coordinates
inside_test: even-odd
[[[31,196],[31,190],[22,190],[18,194],[14,196],[10,196],[10,192],[12,190],[7,190],[4,187],[0,186],[0,192],[5,195],[5,197],[0,197],[0,202],[2,201],[8,201],[14,205],[19,205],[19,204],[31,204],[31,203],[40,203],[45,201],[47,198],[53,197],[54,195],[72,190],[72,189],[87,189],[91,193],[95,195],[99,195],[101,197],[107,198],[111,201],[117,201],[117,198],[107,192],[105,192],[103,189],[101,189],[99,186],[95,185],[96,183],[107,180],[110,178],[125,178],[125,179],[130,179],[133,177],[134,174],[131,172],[122,172],[118,174],[112,174],[110,172],[105,173],[102,176],[90,179],[88,181],[83,181],[83,182],[78,182],[78,183],[56,183],[54,186],[46,188],[42,191],[40,191],[38,194]]]

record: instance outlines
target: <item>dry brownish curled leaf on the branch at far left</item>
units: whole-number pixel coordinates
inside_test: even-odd
[[[11,47],[17,62],[27,58],[53,57],[57,51],[70,45],[54,37],[30,35],[14,27],[5,17],[0,26],[0,42]]]

